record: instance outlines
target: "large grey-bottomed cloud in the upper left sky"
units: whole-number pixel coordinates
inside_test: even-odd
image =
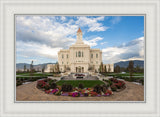
[[[64,18],[62,18],[64,19]],[[77,25],[59,23],[56,18],[40,16],[17,17],[17,41],[45,44],[50,47],[64,47],[73,43],[78,29]],[[64,46],[65,43],[65,46]]]

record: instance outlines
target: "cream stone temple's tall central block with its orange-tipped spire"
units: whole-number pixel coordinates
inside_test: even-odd
[[[98,72],[102,62],[102,51],[91,49],[82,40],[82,31],[77,31],[77,41],[69,49],[62,49],[58,52],[58,63],[61,72],[85,73]],[[111,65],[112,67],[112,65]],[[111,71],[113,72],[113,68]]]

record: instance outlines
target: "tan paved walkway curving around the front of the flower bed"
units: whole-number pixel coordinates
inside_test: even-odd
[[[36,88],[36,81],[16,88],[17,101],[143,101],[144,86],[126,82],[127,88],[108,97],[69,97],[46,94]]]

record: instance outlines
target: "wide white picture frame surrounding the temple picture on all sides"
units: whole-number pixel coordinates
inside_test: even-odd
[[[159,0],[1,0],[0,115],[5,116],[160,116]],[[145,103],[15,103],[15,14],[90,14],[146,16]]]

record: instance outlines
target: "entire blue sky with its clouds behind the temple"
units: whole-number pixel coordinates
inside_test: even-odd
[[[104,63],[144,60],[143,16],[16,16],[16,63],[55,63],[76,41],[102,50]]]

